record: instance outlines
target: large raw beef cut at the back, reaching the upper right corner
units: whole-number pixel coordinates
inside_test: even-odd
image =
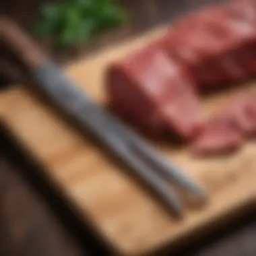
[[[249,78],[256,74],[255,1],[203,9],[177,22],[162,47],[191,70],[198,87]]]

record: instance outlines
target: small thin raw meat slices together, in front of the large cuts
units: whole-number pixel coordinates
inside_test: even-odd
[[[219,154],[237,149],[243,137],[256,135],[256,94],[240,94],[220,108],[192,144],[195,154]]]

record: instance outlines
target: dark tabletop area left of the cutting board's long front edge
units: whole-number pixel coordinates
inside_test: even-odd
[[[0,122],[0,255],[108,255],[6,128]]]

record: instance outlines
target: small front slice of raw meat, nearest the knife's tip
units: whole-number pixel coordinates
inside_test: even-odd
[[[200,135],[191,144],[197,156],[215,156],[237,150],[243,142],[241,133],[228,121],[214,119],[205,125]]]

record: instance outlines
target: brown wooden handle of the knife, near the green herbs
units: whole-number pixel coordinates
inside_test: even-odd
[[[34,69],[48,60],[36,42],[7,18],[0,19],[0,34],[6,46],[14,51],[28,69]]]

